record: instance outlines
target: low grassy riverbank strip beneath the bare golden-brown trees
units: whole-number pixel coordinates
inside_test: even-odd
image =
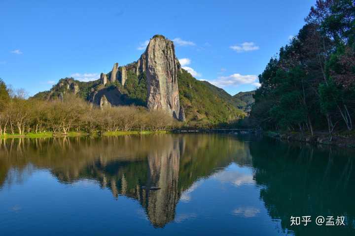
[[[80,137],[80,136],[121,136],[121,135],[143,135],[143,134],[167,134],[170,133],[167,130],[158,130],[158,131],[108,131],[108,132],[95,132],[95,133],[85,133],[85,132],[68,132],[64,133],[53,133],[53,132],[41,132],[41,133],[26,133],[26,134],[2,134],[0,139],[8,138],[52,138],[52,137]]]

